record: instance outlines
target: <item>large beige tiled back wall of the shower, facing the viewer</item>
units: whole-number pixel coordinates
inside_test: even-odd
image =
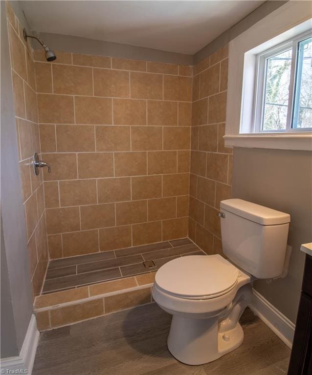
[[[35,51],[51,258],[187,236],[191,67]]]

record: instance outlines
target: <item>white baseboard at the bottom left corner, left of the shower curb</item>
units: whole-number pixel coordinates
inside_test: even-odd
[[[39,331],[37,330],[36,317],[32,314],[20,355],[16,357],[1,358],[0,360],[1,371],[6,371],[3,374],[9,374],[9,371],[14,370],[27,370],[24,374],[31,375],[38,340]]]

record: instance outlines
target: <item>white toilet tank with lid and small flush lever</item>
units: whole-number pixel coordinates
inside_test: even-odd
[[[283,272],[290,215],[242,199],[220,203],[224,255],[259,279]]]

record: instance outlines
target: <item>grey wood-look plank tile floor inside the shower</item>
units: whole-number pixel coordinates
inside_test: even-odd
[[[48,264],[43,294],[121,279],[158,270],[172,259],[206,255],[190,239],[53,259]]]

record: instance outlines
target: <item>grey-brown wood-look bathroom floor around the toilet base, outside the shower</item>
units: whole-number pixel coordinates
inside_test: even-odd
[[[249,309],[243,344],[202,366],[167,349],[171,315],[155,303],[41,333],[33,375],[285,375],[290,350]]]

